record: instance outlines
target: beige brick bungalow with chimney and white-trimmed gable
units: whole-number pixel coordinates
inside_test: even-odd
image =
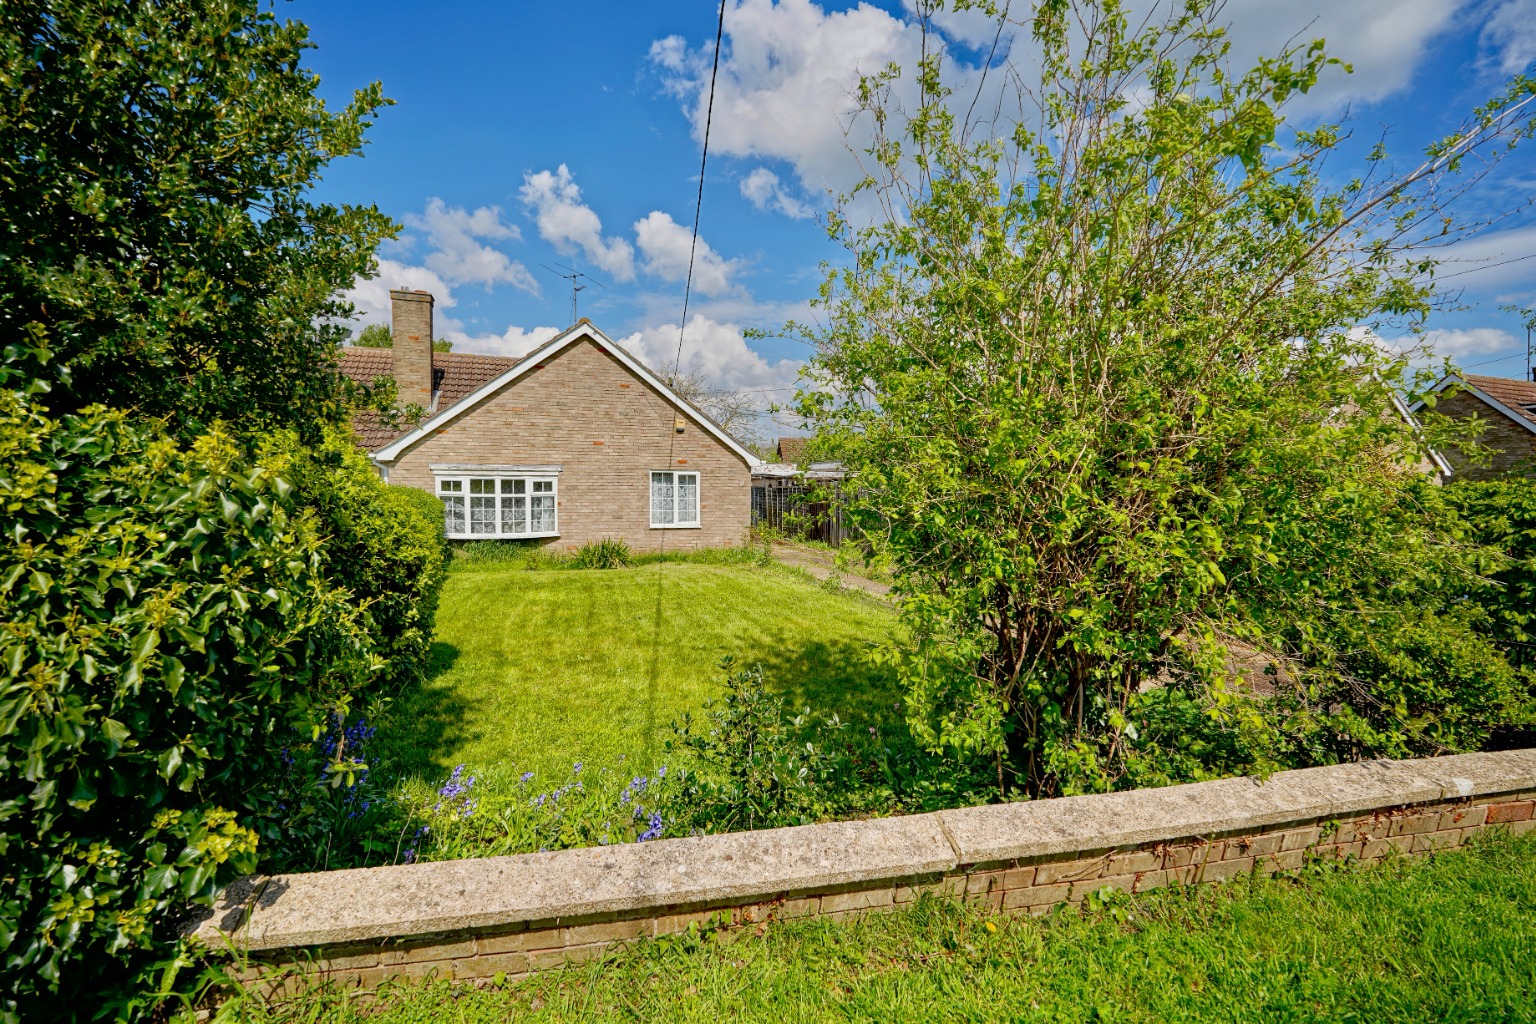
[[[379,473],[436,494],[452,539],[636,551],[742,543],[759,459],[587,319],[521,359],[432,350],[432,295],[390,292],[393,348],[341,370],[425,415],[356,421]]]

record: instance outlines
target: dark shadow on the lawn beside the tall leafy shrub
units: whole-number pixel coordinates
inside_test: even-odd
[[[845,722],[889,722],[902,700],[895,672],[869,663],[871,645],[857,640],[763,643],[737,652],[742,666],[762,665],[768,686],[785,697],[796,714],[837,712]]]

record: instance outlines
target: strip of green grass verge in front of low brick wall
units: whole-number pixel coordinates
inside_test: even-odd
[[[928,901],[647,941],[501,989],[312,992],[227,1019],[1533,1021],[1536,837],[1379,867],[1164,890],[1052,920]]]

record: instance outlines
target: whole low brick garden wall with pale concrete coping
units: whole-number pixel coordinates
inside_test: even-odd
[[[306,973],[518,978],[690,924],[889,910],[929,892],[1017,913],[1114,886],[1218,883],[1307,858],[1447,851],[1536,827],[1536,749],[599,849],[250,878],[190,933]],[[283,973],[283,972],[276,972]],[[276,993],[290,976],[269,981]]]

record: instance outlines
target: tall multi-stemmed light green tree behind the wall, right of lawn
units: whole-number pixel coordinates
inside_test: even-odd
[[[1359,327],[1427,310],[1416,247],[1455,236],[1461,163],[1528,137],[1536,88],[1407,175],[1378,150],[1333,186],[1339,130],[1281,129],[1336,61],[1318,41],[1233,74],[1218,12],[1134,29],[1118,0],[1041,0],[1005,26],[1032,32],[1037,77],[982,104],[1012,118],[969,120],[937,46],[915,107],[897,68],[860,94],[854,200],[877,216],[833,220],[849,259],[805,329],[800,411],[905,593],[912,642],[889,657],[914,728],[1028,792],[1135,785],[1177,692],[1223,771],[1338,757],[1327,731],[1367,718],[1339,700],[1389,706],[1344,746],[1422,749],[1424,708],[1355,685],[1338,643],[1362,608],[1401,631],[1404,593],[1455,551],[1415,497],[1405,359]],[[1484,725],[1519,714],[1513,689]]]

